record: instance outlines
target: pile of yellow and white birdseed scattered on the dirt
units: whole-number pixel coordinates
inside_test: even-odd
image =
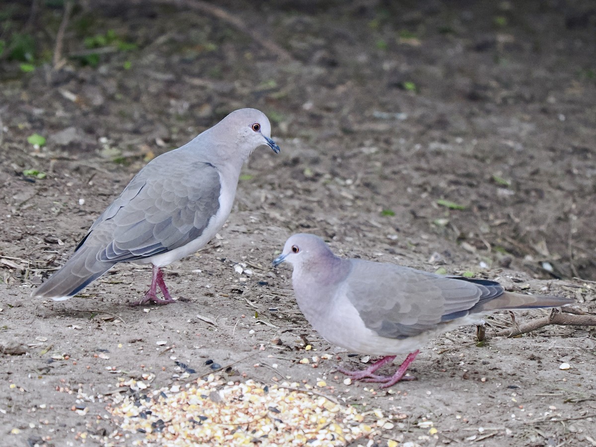
[[[147,399],[114,394],[108,411],[122,430],[144,435],[131,445],[339,446],[392,425],[375,420],[375,412],[365,416],[353,406],[296,390],[299,386],[226,383],[210,374],[177,393],[170,386]]]

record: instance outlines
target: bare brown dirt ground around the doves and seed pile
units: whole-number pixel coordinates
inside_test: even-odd
[[[594,312],[593,3],[219,5],[260,38],[182,6],[106,3],[73,10],[57,69],[0,60],[0,445],[147,440],[108,411],[131,392],[119,383],[171,389],[213,373],[209,360],[223,381],[295,381],[358,409],[373,431],[352,445],[596,445],[592,328],[483,346],[461,328],[424,347],[415,381],[346,385],[334,367],[361,357],[322,340],[290,269],[271,268],[290,234],[313,232],[345,256],[474,272]],[[61,8],[5,11],[52,54]],[[103,42],[83,65],[84,39],[108,30],[134,48]],[[150,282],[134,265],[72,300],[30,299],[146,160],[240,107],[269,116],[281,154],[255,151],[221,238],[166,268],[187,300],[131,308]]]

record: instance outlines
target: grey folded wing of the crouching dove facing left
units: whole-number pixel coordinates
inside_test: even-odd
[[[433,330],[503,293],[492,281],[445,278],[362,260],[352,260],[352,271],[342,289],[366,327],[394,339]]]

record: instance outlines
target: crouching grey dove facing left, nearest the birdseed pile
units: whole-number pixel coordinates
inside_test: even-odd
[[[503,290],[499,283],[448,278],[392,263],[335,256],[312,234],[294,234],[273,265],[294,266],[292,285],[300,310],[330,343],[349,350],[384,356],[363,371],[347,371],[354,380],[390,387],[404,376],[418,348],[437,334],[499,309],[564,306],[573,300],[523,295]],[[409,355],[392,376],[375,372]]]

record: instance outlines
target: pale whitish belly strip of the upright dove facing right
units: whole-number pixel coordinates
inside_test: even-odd
[[[209,224],[207,224],[199,237],[190,241],[188,244],[183,245],[182,247],[178,247],[177,249],[156,254],[155,256],[147,257],[142,260],[139,259],[136,262],[143,264],[152,263],[156,267],[164,267],[178,259],[189,256],[190,254],[193,254],[197,250],[206,246],[207,243],[212,240],[213,237],[215,237],[222,226],[224,226],[225,221],[228,219],[229,213],[232,210],[232,204],[234,204],[237,182],[232,182],[233,184],[230,185],[229,182],[225,181],[221,172],[219,173],[219,181],[222,185],[221,193],[219,193],[218,199],[219,209],[211,217],[211,219],[209,219]]]

